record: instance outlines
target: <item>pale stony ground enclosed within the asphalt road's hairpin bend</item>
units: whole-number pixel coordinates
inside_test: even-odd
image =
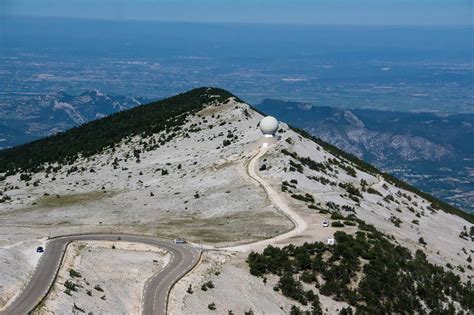
[[[34,314],[140,314],[147,279],[169,259],[166,251],[144,244],[74,242],[52,291]]]

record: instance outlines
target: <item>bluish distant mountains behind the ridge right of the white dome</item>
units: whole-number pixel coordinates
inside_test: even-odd
[[[257,108],[474,211],[474,114],[340,109],[274,99]]]

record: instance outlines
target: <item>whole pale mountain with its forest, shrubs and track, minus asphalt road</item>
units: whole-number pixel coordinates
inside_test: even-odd
[[[94,232],[207,249],[171,290],[173,314],[472,309],[472,215],[285,123],[263,138],[262,117],[199,88],[0,151],[0,302],[41,238]],[[43,310],[137,303],[78,288]]]

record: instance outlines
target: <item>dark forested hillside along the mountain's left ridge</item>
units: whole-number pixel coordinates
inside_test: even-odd
[[[163,130],[173,137],[189,114],[212,101],[233,96],[216,88],[198,88],[148,105],[119,112],[41,140],[0,151],[0,173],[37,171],[45,163],[64,163],[92,156],[126,137]],[[157,146],[159,144],[156,144]]]

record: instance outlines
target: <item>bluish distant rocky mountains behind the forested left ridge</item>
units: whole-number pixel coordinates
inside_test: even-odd
[[[57,92],[0,107],[0,149],[49,136],[143,103],[146,103],[143,98],[88,90],[79,95]]]

